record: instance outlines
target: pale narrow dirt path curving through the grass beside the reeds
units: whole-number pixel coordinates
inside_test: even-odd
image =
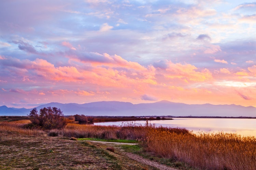
[[[101,144],[106,144],[106,145],[113,145],[113,144],[114,145],[138,145],[137,143],[102,142],[102,141],[91,141],[91,140],[88,140],[88,142],[101,143]],[[129,157],[133,160],[136,160],[137,162],[140,162],[142,164],[146,164],[146,165],[155,167],[155,168],[160,169],[160,170],[177,170],[176,168],[171,168],[169,166],[159,164],[155,161],[145,159],[142,156],[139,156],[137,154],[133,154],[133,153],[130,153],[130,152],[124,152],[123,151],[122,155],[127,156],[127,157]]]

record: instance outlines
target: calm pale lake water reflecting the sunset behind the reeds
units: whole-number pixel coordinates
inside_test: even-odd
[[[129,121],[131,122],[131,121]],[[146,121],[133,121],[144,125]],[[197,132],[227,132],[243,136],[256,136],[256,119],[222,119],[222,118],[174,118],[173,120],[154,120],[151,124],[173,128],[186,128]],[[126,122],[101,122],[95,125],[124,125]]]

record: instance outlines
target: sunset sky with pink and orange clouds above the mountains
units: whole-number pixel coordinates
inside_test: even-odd
[[[256,106],[256,1],[0,1],[0,106],[160,100]]]

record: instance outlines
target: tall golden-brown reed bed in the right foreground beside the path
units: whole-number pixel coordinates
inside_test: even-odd
[[[156,155],[199,169],[255,169],[256,139],[229,133],[148,131],[144,146]]]

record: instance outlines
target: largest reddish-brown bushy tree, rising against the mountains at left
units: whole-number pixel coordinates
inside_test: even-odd
[[[67,122],[62,111],[56,107],[44,107],[38,111],[33,108],[28,115],[32,124],[40,126],[43,129],[62,129]]]

